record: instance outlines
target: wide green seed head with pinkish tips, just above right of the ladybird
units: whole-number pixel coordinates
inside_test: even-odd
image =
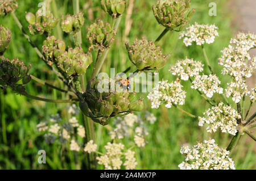
[[[138,70],[158,70],[167,63],[168,55],[162,54],[162,49],[152,41],[135,40],[133,45],[126,43],[130,61]]]

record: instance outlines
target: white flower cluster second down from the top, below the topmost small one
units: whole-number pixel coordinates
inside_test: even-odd
[[[200,61],[185,58],[185,60],[177,61],[171,66],[172,75],[178,75],[181,80],[187,81],[189,77],[195,77],[203,71],[204,65]]]

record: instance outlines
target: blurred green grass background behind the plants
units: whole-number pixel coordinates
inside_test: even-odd
[[[25,20],[26,11],[36,12],[38,3],[41,1],[26,0],[18,1],[19,7],[15,14],[22,22],[25,30],[28,32],[28,23]],[[217,16],[209,16],[209,3],[216,2]],[[221,56],[220,50],[228,45],[229,40],[236,32],[236,25],[232,24],[233,15],[230,13],[229,1],[227,0],[192,0],[192,7],[196,9],[190,23],[215,23],[219,28],[219,37],[216,37],[214,44],[205,47],[210,64],[214,71],[220,75],[221,68],[217,64],[218,57]],[[57,15],[73,14],[72,1],[56,0]],[[148,40],[155,40],[156,37],[164,30],[160,26],[152,14],[151,6],[154,0],[135,0],[133,14],[131,19],[133,24],[127,37],[130,44],[135,38],[146,37]],[[88,14],[88,8],[92,8],[93,19]],[[82,28],[82,48],[86,51],[89,47],[86,41],[86,30],[90,23],[95,19],[101,18],[110,22],[110,16],[100,9],[100,0],[82,1],[80,0],[80,9],[85,15],[85,25]],[[126,15],[126,14],[125,14]],[[125,49],[124,31],[126,28],[125,15],[122,18],[115,43],[110,49],[106,63],[102,71],[109,72],[110,68],[116,68],[118,71],[125,70],[131,62]],[[63,87],[60,81],[49,69],[44,65],[43,61],[38,58],[35,50],[28,44],[22,33],[18,30],[14,19],[11,15],[0,18],[3,26],[9,27],[12,32],[12,40],[9,49],[6,50],[5,57],[19,58],[26,64],[31,63],[30,73],[41,79],[47,79],[56,86]],[[53,32],[57,36],[57,30]],[[171,64],[175,64],[177,60],[183,60],[185,57],[194,58],[204,62],[203,52],[199,46],[185,47],[181,40],[178,39],[179,34],[170,32],[160,41],[159,45],[163,48],[164,53],[171,53],[168,64],[159,71],[160,79],[168,79],[174,81],[175,77],[168,71]],[[45,39],[43,36],[31,36],[31,39],[42,47]],[[66,44],[72,46],[72,38],[63,35]],[[93,56],[96,53],[93,52]],[[91,74],[93,65],[90,66],[86,76]],[[207,71],[207,70],[206,70]],[[221,76],[222,77],[222,76]],[[228,81],[222,77],[222,84]],[[203,115],[205,109],[209,105],[204,99],[197,94],[196,91],[189,89],[190,83],[181,82],[187,91],[187,98],[184,110],[194,115]],[[35,82],[31,82],[27,87],[27,91],[32,95],[45,96],[50,99],[65,98],[65,95],[40,87]],[[147,94],[142,94],[146,98]],[[216,99],[220,99],[218,96]],[[167,109],[164,106],[158,110],[151,110],[150,103],[145,100],[146,110],[150,110],[157,117],[155,124],[148,129],[148,144],[142,149],[135,149],[138,166],[137,169],[178,169],[179,163],[184,161],[184,155],[179,153],[180,147],[184,143],[191,145],[197,144],[197,141],[203,141],[209,137],[215,138],[218,145],[222,148],[228,146],[231,136],[227,133],[209,134],[205,132],[205,128],[197,125],[198,120],[191,119],[183,113],[175,110],[175,108]],[[36,124],[40,121],[48,120],[49,116],[56,113],[63,113],[67,104],[44,103],[27,99],[24,96],[13,94],[10,90],[0,93],[0,169],[76,169],[76,163],[81,167],[84,166],[85,154],[73,153],[73,151],[65,152],[64,162],[61,163],[61,145],[46,144],[43,140],[43,134],[36,129]],[[64,113],[63,113],[64,114]],[[111,123],[110,123],[111,124]],[[108,131],[100,125],[96,125],[96,143],[105,145],[109,141]],[[128,140],[127,140],[128,142]],[[102,146],[101,146],[102,148]],[[38,150],[44,149],[47,152],[47,164],[39,164],[37,161]],[[236,150],[232,153],[232,158],[237,169],[256,169],[256,148],[253,141],[249,137],[243,136]],[[102,167],[99,167],[102,169]]]

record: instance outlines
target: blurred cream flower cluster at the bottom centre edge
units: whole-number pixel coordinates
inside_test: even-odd
[[[97,157],[98,164],[104,165],[105,169],[121,169],[122,164],[126,167],[126,169],[135,169],[137,162],[134,158],[134,151],[128,150],[127,152],[123,152],[124,149],[123,144],[116,144],[108,142],[105,145],[106,154]],[[122,157],[125,155],[125,162],[123,162]]]

